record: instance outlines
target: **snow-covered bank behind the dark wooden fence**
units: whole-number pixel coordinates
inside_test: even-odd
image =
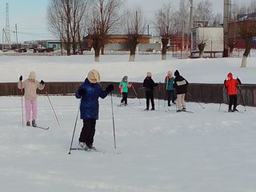
[[[129,55],[101,55],[100,62],[94,62],[94,55],[62,57],[46,56],[2,56],[0,59],[0,82],[17,82],[22,74],[27,78],[31,70],[45,82],[82,82],[88,71],[96,69],[103,82],[119,82],[124,75],[130,82],[143,82],[146,72],[151,71],[155,82],[163,82],[167,71],[179,70],[189,82],[223,83],[226,74],[232,72],[242,83],[256,84],[256,51],[252,50],[248,67],[241,68],[242,58],[198,58],[178,59],[168,55],[166,61],[161,55],[136,55],[136,62],[128,62]]]

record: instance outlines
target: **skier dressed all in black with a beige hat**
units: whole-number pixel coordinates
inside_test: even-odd
[[[151,72],[146,73],[146,78],[143,81],[143,87],[145,87],[146,91],[146,109],[150,109],[150,102],[151,102],[151,110],[154,110],[154,86],[158,86],[158,83],[155,83],[152,79]]]

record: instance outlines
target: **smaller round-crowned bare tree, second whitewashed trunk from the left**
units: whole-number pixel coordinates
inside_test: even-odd
[[[124,17],[123,30],[127,35],[128,45],[130,47],[129,62],[134,62],[138,39],[142,37],[146,30],[146,20],[142,16],[142,10],[128,11]]]

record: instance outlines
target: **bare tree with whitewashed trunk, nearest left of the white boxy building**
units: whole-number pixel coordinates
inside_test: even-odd
[[[162,6],[161,10],[155,16],[154,23],[156,34],[162,39],[162,60],[166,60],[167,45],[177,34],[175,25],[174,12],[170,4]]]

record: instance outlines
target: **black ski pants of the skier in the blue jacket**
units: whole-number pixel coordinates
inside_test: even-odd
[[[83,126],[79,142],[85,142],[87,146],[90,146],[94,143],[95,125],[96,119],[83,119]]]

